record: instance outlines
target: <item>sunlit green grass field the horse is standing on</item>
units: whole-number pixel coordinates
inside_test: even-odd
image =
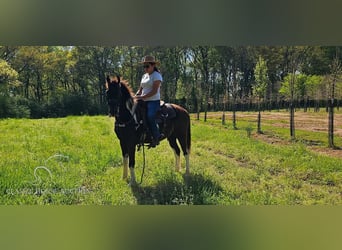
[[[222,126],[219,114],[206,123],[192,116],[191,175],[174,172],[163,141],[146,150],[136,188],[121,178],[112,118],[0,120],[0,204],[342,204],[341,158],[312,149],[326,148],[326,133],[298,129],[291,143],[268,119],[261,138],[248,115],[238,116],[238,130]],[[339,135],[335,142],[342,146]],[[139,181],[141,152],[136,160]]]

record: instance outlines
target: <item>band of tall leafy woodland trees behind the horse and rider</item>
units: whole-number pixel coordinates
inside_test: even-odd
[[[106,114],[106,75],[138,89],[147,54],[161,63],[163,100],[205,120],[218,110],[328,111],[342,104],[341,48],[0,46],[0,118]]]

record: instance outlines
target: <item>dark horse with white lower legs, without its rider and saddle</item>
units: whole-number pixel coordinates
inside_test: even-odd
[[[106,98],[109,106],[109,115],[115,117],[114,132],[120,141],[123,157],[123,179],[128,179],[128,167],[130,170],[130,185],[136,185],[134,171],[136,147],[140,148],[144,143],[149,142],[146,136],[146,125],[144,124],[144,109],[134,99],[134,94],[127,81],[120,80],[120,77],[106,78]],[[166,107],[166,105],[164,105]],[[186,109],[176,104],[168,104],[172,112],[170,117],[164,116],[159,128],[167,138],[170,147],[175,155],[175,170],[180,172],[180,144],[186,161],[186,175],[190,174],[189,155],[191,148],[191,123],[190,116]]]

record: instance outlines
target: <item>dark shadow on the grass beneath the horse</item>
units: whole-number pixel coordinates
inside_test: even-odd
[[[177,180],[175,175],[151,186],[132,187],[133,195],[140,205],[214,205],[222,187],[212,178],[202,174],[183,175]]]

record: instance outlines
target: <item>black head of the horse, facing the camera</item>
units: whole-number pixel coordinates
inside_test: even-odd
[[[111,116],[115,116],[118,113],[118,108],[121,101],[120,77],[107,76],[106,80],[106,97],[109,106],[109,114]]]

